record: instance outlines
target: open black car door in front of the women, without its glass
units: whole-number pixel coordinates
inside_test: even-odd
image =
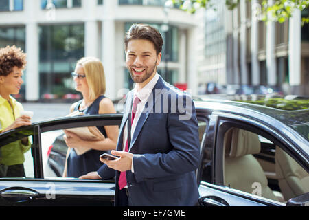
[[[13,135],[14,138],[9,138],[10,142],[20,138],[23,131],[29,131],[32,135],[32,157],[34,161],[34,177],[16,178],[3,177],[0,178],[0,203],[1,206],[36,206],[36,205],[59,205],[58,202],[68,206],[106,203],[108,206],[113,206],[115,195],[115,180],[92,180],[92,179],[77,179],[77,178],[62,178],[50,177],[44,178],[43,161],[41,149],[41,133],[42,131],[54,131],[55,129],[64,129],[69,126],[108,126],[120,125],[122,122],[122,114],[105,114],[105,115],[84,115],[78,116],[82,118],[58,118],[44,122],[36,122],[30,126],[23,126],[18,129],[0,134],[0,142],[5,138]],[[70,122],[73,120],[73,122]],[[67,123],[69,122],[69,123]],[[63,125],[67,123],[67,125]],[[104,123],[104,124],[102,124]],[[25,137],[29,137],[26,135]],[[8,143],[6,143],[8,144]],[[3,144],[5,145],[5,144]],[[103,185],[102,185],[103,184]],[[52,188],[50,188],[52,187]],[[55,189],[54,192],[52,189]],[[23,195],[18,196],[16,195]],[[30,195],[28,194],[30,193]],[[33,193],[33,194],[31,194]],[[53,196],[54,198],[50,197]],[[5,199],[12,198],[22,199],[20,201],[7,201]],[[23,199],[25,198],[25,199]],[[94,200],[93,200],[94,199]],[[93,201],[93,202],[92,202]]]

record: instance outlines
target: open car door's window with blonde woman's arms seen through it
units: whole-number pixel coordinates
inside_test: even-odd
[[[119,125],[113,124],[111,126]],[[98,144],[97,146],[94,144],[108,138],[106,130],[104,130],[108,126],[95,126],[95,123],[90,123],[90,126],[63,124],[59,128],[61,129],[49,129],[49,131],[41,133],[43,174],[45,178],[69,177],[78,179],[82,175],[97,171],[103,165],[99,156],[102,153],[108,153],[110,150],[99,149]],[[98,128],[103,129],[103,133]],[[43,129],[43,131],[45,130]],[[65,141],[67,135],[70,134],[73,138],[69,137],[67,140],[73,140],[74,136],[77,136],[73,143],[71,142],[71,145]]]

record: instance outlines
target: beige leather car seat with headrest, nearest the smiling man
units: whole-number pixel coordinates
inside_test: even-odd
[[[225,133],[225,186],[279,201],[275,197],[259,162],[252,154],[260,153],[258,135],[232,128]]]

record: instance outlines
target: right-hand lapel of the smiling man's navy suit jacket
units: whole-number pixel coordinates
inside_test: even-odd
[[[139,135],[139,132],[143,128],[143,126],[144,126],[144,124],[145,124],[145,122],[148,118],[149,113],[153,111],[153,109],[154,109],[153,107],[155,105],[155,102],[159,98],[159,94],[161,93],[161,89],[163,89],[163,85],[164,85],[164,81],[163,81],[163,78],[161,78],[161,76],[160,76],[155,87],[152,89],[152,94],[150,94],[150,96],[149,96],[149,98],[146,102],[147,107],[145,107],[143,113],[141,113],[141,116],[139,117],[139,121],[136,124],[135,131],[133,133],[133,137],[132,137],[132,140],[131,140],[131,143],[130,143],[130,146],[129,146],[129,151],[132,148],[132,146],[134,145],[135,140],[137,139],[137,137]]]

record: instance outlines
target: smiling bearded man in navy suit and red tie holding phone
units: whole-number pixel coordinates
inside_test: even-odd
[[[155,28],[133,24],[124,40],[135,88],[126,96],[116,160],[115,206],[194,206],[199,161],[198,123],[190,96],[157,73],[163,39]],[[107,168],[108,166],[108,168]]]

